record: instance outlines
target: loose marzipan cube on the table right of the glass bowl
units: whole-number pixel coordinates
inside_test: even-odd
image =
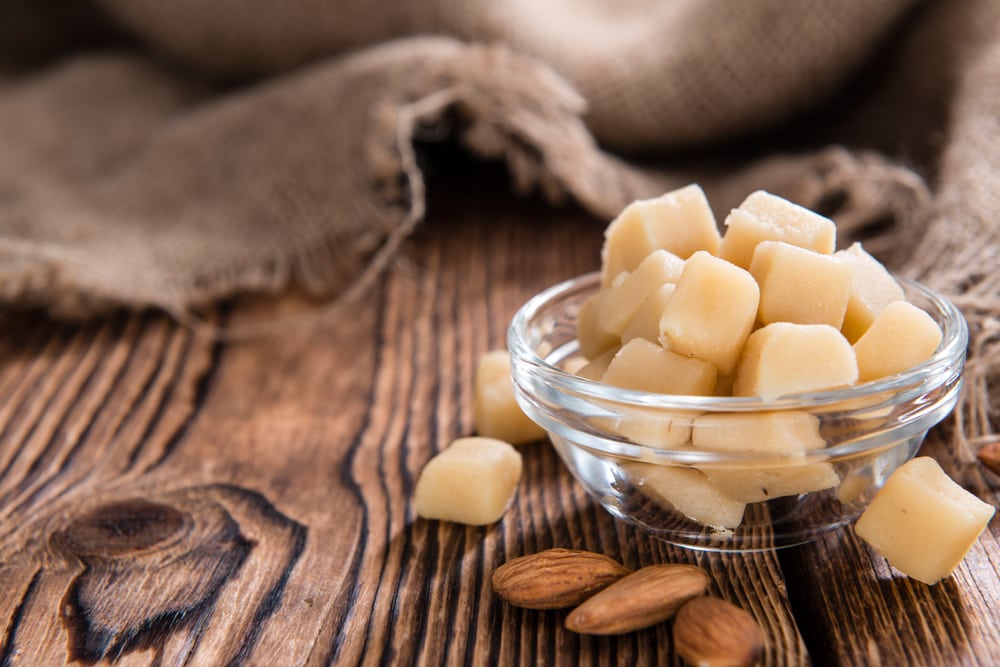
[[[854,532],[900,572],[935,584],[958,567],[994,512],[921,456],[892,473]]]

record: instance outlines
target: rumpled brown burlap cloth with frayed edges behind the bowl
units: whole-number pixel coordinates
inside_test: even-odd
[[[603,219],[695,180],[832,215],[965,312],[968,453],[1000,427],[998,118],[995,0],[0,0],[0,298],[343,294],[449,136]]]

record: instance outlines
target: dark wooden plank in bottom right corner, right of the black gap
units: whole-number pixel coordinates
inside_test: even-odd
[[[960,463],[941,436],[932,431],[920,453],[996,505],[997,477]],[[895,572],[850,530],[782,552],[800,618],[825,619],[804,626],[816,664],[1000,664],[998,533],[994,520],[958,571],[935,586]]]

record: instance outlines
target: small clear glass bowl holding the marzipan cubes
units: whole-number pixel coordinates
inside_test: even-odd
[[[507,346],[517,401],[591,496],[660,539],[716,551],[808,542],[852,522],[958,400],[965,320],[941,296],[899,282],[941,326],[931,359],[848,389],[763,402],[633,391],[568,372],[581,359],[577,313],[600,284],[599,274],[581,276],[514,316]],[[698,429],[762,445],[800,438],[806,449],[707,451],[691,444]]]

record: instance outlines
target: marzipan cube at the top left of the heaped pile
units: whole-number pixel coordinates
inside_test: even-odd
[[[669,250],[687,259],[697,250],[715,254],[719,249],[715,216],[698,185],[632,202],[608,225],[604,237],[605,287],[622,271],[634,271],[654,250]]]

